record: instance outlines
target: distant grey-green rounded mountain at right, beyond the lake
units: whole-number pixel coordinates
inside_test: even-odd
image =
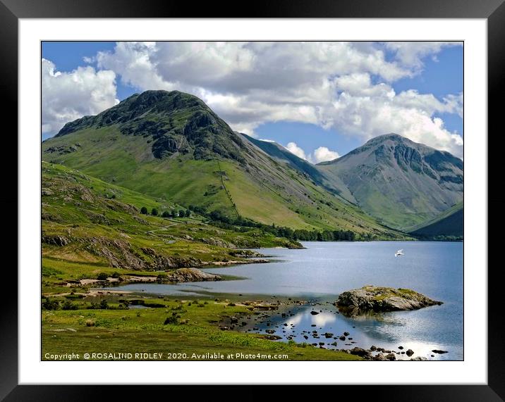
[[[345,185],[352,195],[349,201],[400,230],[432,219],[463,199],[463,161],[398,134],[370,139],[317,167],[336,187],[341,187],[339,182]]]

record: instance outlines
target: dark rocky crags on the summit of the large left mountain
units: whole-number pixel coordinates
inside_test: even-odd
[[[180,153],[195,159],[243,161],[241,138],[204,101],[179,91],[133,94],[98,115],[67,123],[56,137],[109,126],[124,135],[147,138],[155,158]]]

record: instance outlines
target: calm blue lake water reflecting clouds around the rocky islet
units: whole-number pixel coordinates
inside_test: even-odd
[[[314,306],[289,307],[286,318],[281,317],[281,310],[272,318],[250,318],[243,330],[264,332],[267,328],[274,329],[283,339],[292,337],[310,343],[324,341],[325,347],[331,347],[335,340],[326,339],[322,335],[324,332],[331,332],[335,337],[349,332],[352,341],[336,339],[336,348],[369,348],[375,344],[398,351],[397,347],[403,346],[404,351],[408,348],[415,351],[413,357],[463,359],[463,243],[377,241],[305,242],[303,245],[307,249],[257,250],[272,256],[272,263],[205,270],[247,278],[243,280],[129,284],[122,289],[154,294],[209,291],[304,297],[311,299]],[[398,249],[403,249],[405,256],[395,258],[394,252]],[[444,304],[372,317],[346,318],[337,314],[331,305],[336,296],[365,284],[407,287]],[[322,311],[312,315],[310,310]],[[312,336],[314,330],[317,330],[319,339]],[[431,353],[432,349],[449,353],[438,355]]]

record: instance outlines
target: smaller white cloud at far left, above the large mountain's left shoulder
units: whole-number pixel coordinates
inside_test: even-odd
[[[56,134],[65,123],[95,115],[118,103],[116,74],[91,66],[61,73],[42,59],[42,133]]]

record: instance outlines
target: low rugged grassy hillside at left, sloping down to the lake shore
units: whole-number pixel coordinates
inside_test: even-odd
[[[142,207],[160,214],[185,211],[169,201],[43,162],[43,290],[64,280],[96,278],[100,272],[154,275],[171,268],[245,261],[234,247],[296,246],[260,229],[225,230],[195,213],[188,218],[143,215]]]

